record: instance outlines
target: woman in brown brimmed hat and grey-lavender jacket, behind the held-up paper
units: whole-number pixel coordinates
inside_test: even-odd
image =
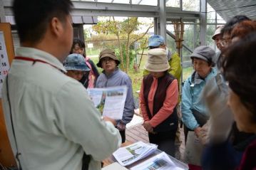
[[[126,85],[127,95],[126,103],[123,109],[123,118],[116,120],[116,128],[119,130],[122,143],[126,142],[126,124],[133,119],[134,115],[134,100],[133,100],[133,88],[131,80],[126,73],[119,70],[118,64],[120,61],[116,57],[116,54],[111,49],[101,51],[97,66],[103,68],[103,72],[96,81],[96,87],[115,87],[120,85]]]

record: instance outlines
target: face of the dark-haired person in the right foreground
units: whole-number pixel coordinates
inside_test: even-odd
[[[252,122],[252,113],[247,110],[242,104],[240,97],[230,90],[230,95],[227,100],[227,105],[232,110],[232,113],[237,122],[237,128],[242,132],[253,133],[256,130],[256,124]]]

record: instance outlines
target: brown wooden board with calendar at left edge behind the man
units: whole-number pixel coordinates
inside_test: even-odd
[[[1,102],[1,87],[13,59],[14,43],[11,37],[11,24],[0,23],[0,163],[6,167],[16,166],[16,161],[6,132]]]

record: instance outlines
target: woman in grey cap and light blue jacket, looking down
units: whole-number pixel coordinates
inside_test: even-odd
[[[202,100],[203,87],[208,80],[216,75],[214,58],[215,51],[208,46],[195,48],[192,55],[194,73],[185,81],[183,85],[183,95],[181,102],[182,120],[185,124],[185,142],[188,131],[194,131],[199,136],[201,127],[209,118]]]

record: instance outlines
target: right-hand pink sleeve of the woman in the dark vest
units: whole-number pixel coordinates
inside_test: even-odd
[[[170,83],[168,89],[166,90],[165,101],[163,102],[163,107],[155,114],[155,116],[150,119],[150,124],[152,127],[156,127],[158,124],[167,119],[172,113],[173,109],[178,104],[178,81],[175,79]]]

